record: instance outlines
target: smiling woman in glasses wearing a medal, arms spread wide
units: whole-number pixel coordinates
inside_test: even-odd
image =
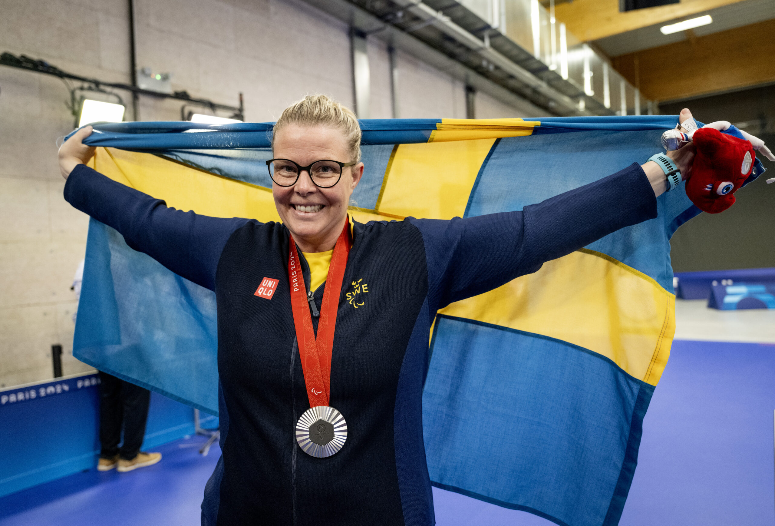
[[[318,95],[274,127],[282,223],[262,224],[109,180],[83,164],[90,132],[60,149],[67,201],[216,294],[222,458],[202,524],[433,524],[422,384],[436,311],[655,218],[668,187],[649,161],[524,211],[351,222],[360,127]],[[670,155],[687,177],[691,146]]]

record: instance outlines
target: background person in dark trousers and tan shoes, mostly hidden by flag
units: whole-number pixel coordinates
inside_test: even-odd
[[[81,280],[84,276],[84,261],[78,265],[73,277],[71,291],[81,301]],[[77,311],[73,315],[75,322]],[[122,473],[133,469],[153,466],[161,460],[161,453],[140,451],[145,436],[145,426],[150,405],[150,391],[134,383],[99,371],[99,441],[102,445],[97,469],[110,471],[118,466]],[[121,431],[124,431],[124,443]]]

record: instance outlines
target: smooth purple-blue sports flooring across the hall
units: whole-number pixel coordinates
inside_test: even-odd
[[[773,524],[775,346],[676,341],[643,422],[622,526]],[[156,466],[91,469],[0,498],[0,526],[195,526],[220,455],[205,438],[154,449]],[[433,490],[439,526],[549,526],[549,521]],[[572,526],[572,525],[571,525]]]

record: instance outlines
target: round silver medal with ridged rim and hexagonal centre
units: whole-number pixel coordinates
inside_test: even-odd
[[[310,407],[296,422],[296,442],[310,456],[332,456],[346,440],[347,422],[333,407]]]

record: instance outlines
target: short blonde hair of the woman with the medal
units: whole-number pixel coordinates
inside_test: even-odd
[[[272,129],[272,147],[277,132],[289,124],[305,126],[330,126],[344,133],[347,141],[347,151],[350,160],[346,162],[357,163],[360,161],[360,124],[350,108],[339,104],[325,95],[307,95],[301,101],[295,102],[283,110],[280,119]]]

